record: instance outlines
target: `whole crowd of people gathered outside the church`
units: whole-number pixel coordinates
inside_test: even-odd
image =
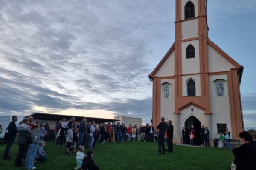
[[[36,122],[33,124],[33,117],[29,116],[19,122],[18,128],[15,124],[17,122],[17,116],[12,116],[12,122],[8,125],[6,131],[6,149],[3,155],[3,159],[12,159],[9,157],[9,150],[18,134],[17,144],[19,151],[15,159],[15,165],[17,167],[22,166],[22,159],[26,159],[25,168],[32,170],[36,167],[34,163],[47,161],[47,153],[44,152],[44,146],[46,145],[44,137],[47,134],[49,125],[44,122]],[[48,126],[48,127],[47,127]],[[172,121],[165,122],[165,118],[161,118],[161,122],[156,127],[150,124],[136,125],[128,127],[125,124],[120,125],[120,122],[108,122],[97,125],[95,121],[90,121],[86,117],[81,122],[76,122],[73,117],[70,120],[62,119],[55,126],[56,133],[56,145],[65,146],[65,154],[67,156],[72,155],[70,150],[76,154],[77,166],[75,169],[81,170],[99,170],[99,167],[94,164],[92,159],[93,149],[95,148],[96,139],[99,142],[112,142],[116,139],[117,142],[130,142],[137,140],[138,142],[157,142],[158,154],[165,154],[167,152],[173,152],[172,139],[173,139],[173,125]],[[186,127],[182,130],[183,143],[195,144],[195,128],[192,125],[191,128]],[[209,130],[202,125],[200,129],[201,146],[209,147]],[[253,162],[256,156],[256,130],[243,131],[239,133],[241,146],[233,149],[235,159],[231,166],[232,168],[243,169],[245,164],[250,166],[250,161]],[[230,131],[226,128],[226,132],[221,134],[220,141],[225,143],[227,148],[230,146]],[[164,142],[167,142],[168,148],[165,148]],[[88,147],[86,154],[84,148]],[[77,150],[78,149],[78,150]],[[76,152],[77,151],[77,152]]]

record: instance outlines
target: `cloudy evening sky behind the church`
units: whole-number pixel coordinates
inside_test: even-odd
[[[208,0],[209,38],[244,66],[256,128],[255,0]],[[151,119],[148,75],[174,42],[175,0],[1,0],[0,114]]]

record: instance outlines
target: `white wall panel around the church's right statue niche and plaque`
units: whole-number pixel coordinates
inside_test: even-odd
[[[230,106],[229,106],[229,96],[215,96],[214,80],[224,79],[227,81],[227,74],[222,75],[212,75],[209,76],[209,93],[210,93],[210,106],[212,112],[212,135],[213,138],[218,138],[217,134],[217,123],[226,123],[227,128],[231,131],[231,121],[230,119]],[[227,82],[226,82],[227,83]],[[228,92],[228,86],[226,84],[226,91]]]

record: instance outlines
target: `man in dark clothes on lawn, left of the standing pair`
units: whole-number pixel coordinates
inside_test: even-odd
[[[159,123],[159,125],[157,126],[158,130],[158,155],[161,155],[162,153],[165,154],[165,147],[164,147],[164,135],[166,132],[166,127],[167,124],[164,121],[164,117],[161,118],[161,122]],[[161,148],[162,148],[162,152],[161,152]]]

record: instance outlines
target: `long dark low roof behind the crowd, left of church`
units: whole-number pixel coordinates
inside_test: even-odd
[[[87,116],[70,116],[70,115],[61,115],[61,114],[49,114],[49,113],[34,113],[29,116],[32,116],[35,120],[62,120],[66,119],[67,121],[70,120],[72,117],[76,118],[76,122],[81,122],[84,117]],[[29,117],[25,116],[25,117]],[[105,118],[97,118],[97,117],[87,117],[87,120],[95,121],[95,123],[106,123],[106,122],[116,122],[119,121],[118,119],[105,119]]]

